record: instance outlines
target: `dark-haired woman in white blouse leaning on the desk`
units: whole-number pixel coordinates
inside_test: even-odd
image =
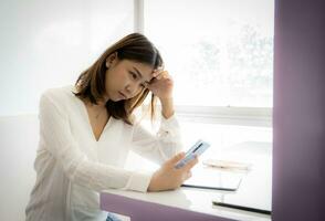
[[[158,50],[144,35],[133,33],[108,48],[74,86],[42,94],[34,162],[38,176],[27,220],[104,221],[107,212],[99,210],[98,200],[102,190],[170,190],[190,177],[197,159],[181,169],[174,168],[185,154],[177,154],[180,137],[172,80],[161,66]],[[155,97],[161,103],[157,136],[136,124],[134,117],[134,109],[149,92],[151,115]],[[160,169],[123,169],[130,149],[160,164]]]

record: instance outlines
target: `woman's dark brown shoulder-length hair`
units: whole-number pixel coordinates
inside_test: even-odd
[[[105,94],[105,75],[107,70],[106,60],[113,53],[117,54],[118,61],[130,60],[147,64],[153,69],[164,65],[159,51],[145,35],[140,33],[128,34],[109,46],[92,66],[81,73],[75,82],[75,96],[80,98],[88,98],[91,103],[95,105],[98,101],[103,99]],[[109,99],[105,106],[111,116],[116,119],[123,119],[125,123],[132,125],[133,110],[143,104],[148,94],[149,90],[144,88],[133,98],[118,102]],[[151,119],[155,115],[155,102],[156,97],[151,94],[149,106]]]

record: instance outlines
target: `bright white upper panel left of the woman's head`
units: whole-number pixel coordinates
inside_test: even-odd
[[[0,1],[0,116],[35,114],[42,91],[73,84],[133,21],[133,0]]]

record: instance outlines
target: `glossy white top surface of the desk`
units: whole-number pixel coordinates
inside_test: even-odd
[[[247,207],[262,204],[263,209],[271,210],[271,144],[266,146],[264,145],[262,147],[259,145],[254,146],[250,143],[242,144],[232,148],[233,151],[227,152],[224,156],[231,156],[232,159],[248,159],[248,149],[250,150],[250,155],[253,152],[253,155],[250,156],[250,162],[253,162],[253,168],[243,177],[240,188],[235,192],[203,190],[186,187],[181,187],[174,191],[146,193],[114,189],[107,190],[106,192],[234,220],[270,221],[271,215],[268,214],[217,207],[212,204],[212,200],[216,199],[224,201],[226,203],[235,203],[241,206],[247,206],[245,202],[249,201],[250,203]],[[235,157],[235,155],[239,157]],[[224,156],[223,159],[227,159]]]

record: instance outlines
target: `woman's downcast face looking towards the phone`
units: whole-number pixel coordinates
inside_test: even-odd
[[[147,64],[115,59],[106,65],[106,95],[114,102],[136,96],[153,78],[154,70]]]

